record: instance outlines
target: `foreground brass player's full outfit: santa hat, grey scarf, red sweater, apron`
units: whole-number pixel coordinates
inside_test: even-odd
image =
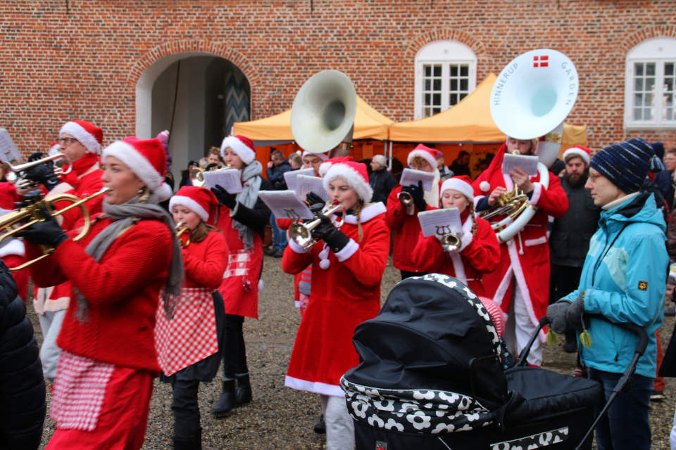
[[[30,266],[31,276],[43,287],[70,281],[77,299],[58,335],[63,352],[51,403],[57,428],[50,450],[142,447],[153,378],[160,371],[153,338],[157,297],[163,290],[170,315],[180,295],[173,220],[156,205],[170,195],[160,141],[126,138],[106,148],[104,161],[108,157],[137,176],[141,195],[121,204],[106,201],[104,214],[80,242],[54,236],[63,232],[53,219],[22,235],[31,242],[29,258],[42,254],[35,243],[56,239],[54,253]]]

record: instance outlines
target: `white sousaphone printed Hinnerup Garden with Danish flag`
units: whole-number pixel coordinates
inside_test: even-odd
[[[538,49],[513,59],[500,72],[491,92],[491,115],[500,131],[521,140],[544,136],[535,154],[539,157],[539,182],[545,189],[549,187],[548,167],[561,150],[563,121],[575,105],[578,84],[577,70],[567,56]],[[499,208],[498,215],[508,214],[492,224],[500,243],[513,238],[537,211],[517,191],[515,186],[512,193],[503,194],[505,198],[492,208]],[[482,217],[496,215],[492,210]]]

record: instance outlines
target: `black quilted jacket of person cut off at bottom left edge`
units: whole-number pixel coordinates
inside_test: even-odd
[[[33,326],[0,260],[0,448],[37,449],[46,409]]]

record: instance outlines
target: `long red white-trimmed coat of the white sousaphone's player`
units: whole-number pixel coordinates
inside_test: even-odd
[[[490,195],[498,186],[511,191],[514,188],[511,176],[502,174],[502,160],[505,145],[498,150],[490,167],[474,181],[475,202]],[[528,203],[537,206],[538,210],[528,224],[513,239],[500,245],[500,262],[491,274],[484,276],[484,289],[488,297],[507,312],[511,304],[513,280],[518,281],[530,319],[537,326],[539,319],[546,316],[549,304],[549,244],[547,241],[547,223],[549,216],[563,217],[568,211],[568,196],[561,187],[558,177],[549,173],[549,187],[539,183],[540,177],[530,178],[535,189]],[[481,189],[486,181],[489,186]],[[491,223],[504,219],[505,216],[492,217]],[[544,340],[544,333],[541,334]]]

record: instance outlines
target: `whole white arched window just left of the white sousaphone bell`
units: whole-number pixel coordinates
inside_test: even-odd
[[[434,41],[415,55],[415,119],[441,113],[474,91],[477,56],[458,41]]]

